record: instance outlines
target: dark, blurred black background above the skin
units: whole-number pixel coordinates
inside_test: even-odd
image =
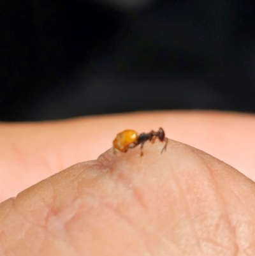
[[[255,110],[255,1],[1,1],[0,120]]]

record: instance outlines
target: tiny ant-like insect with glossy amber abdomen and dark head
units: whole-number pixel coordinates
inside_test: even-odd
[[[164,137],[164,130],[159,128],[158,132],[151,131],[149,133],[138,133],[134,130],[125,130],[117,134],[115,140],[113,140],[113,148],[118,149],[120,152],[127,152],[128,149],[141,145],[141,156],[143,156],[143,145],[147,140],[152,143],[156,138],[159,138],[160,141],[164,141],[164,147],[161,150],[166,151],[166,145],[168,140]]]

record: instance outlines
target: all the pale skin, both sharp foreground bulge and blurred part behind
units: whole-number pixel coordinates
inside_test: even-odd
[[[170,139],[113,154],[118,132]],[[159,112],[0,125],[0,255],[255,255],[255,117]],[[230,163],[181,144],[207,151]]]

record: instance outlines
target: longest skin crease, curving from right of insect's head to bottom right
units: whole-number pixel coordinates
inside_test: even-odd
[[[238,246],[238,242],[237,242],[237,230],[235,227],[233,227],[231,220],[230,220],[230,213],[228,211],[228,209],[226,208],[226,200],[224,200],[224,197],[222,197],[221,193],[219,193],[220,189],[219,189],[219,184],[217,183],[217,179],[215,178],[212,169],[210,169],[210,167],[208,166],[207,162],[205,162],[205,159],[203,158],[203,156],[201,156],[201,154],[198,154],[197,151],[199,151],[198,149],[194,150],[193,147],[191,147],[191,150],[194,152],[194,154],[196,154],[198,156],[198,158],[200,158],[201,162],[203,162],[203,165],[205,165],[207,167],[208,170],[208,174],[210,175],[210,177],[212,178],[212,181],[214,181],[215,184],[215,193],[217,193],[217,198],[221,199],[222,204],[221,204],[221,209],[224,209],[224,216],[226,216],[228,218],[228,226],[232,228],[233,230],[233,234],[235,234],[235,251],[236,254],[238,255],[238,252],[240,251],[240,248]],[[224,246],[222,246],[224,248]],[[234,256],[234,255],[233,255]]]

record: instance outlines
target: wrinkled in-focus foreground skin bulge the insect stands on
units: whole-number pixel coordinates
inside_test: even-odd
[[[255,253],[254,182],[169,140],[79,163],[0,204],[12,255]]]

